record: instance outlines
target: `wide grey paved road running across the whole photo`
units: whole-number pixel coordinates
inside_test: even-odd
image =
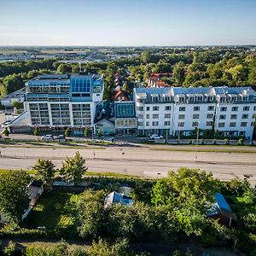
[[[239,153],[179,152],[153,148],[0,148],[0,169],[30,169],[38,158],[53,160],[57,167],[65,156],[77,150],[87,160],[90,172],[119,172],[142,177],[163,177],[181,166],[200,168],[215,177],[243,178],[244,174],[256,184],[256,155]]]

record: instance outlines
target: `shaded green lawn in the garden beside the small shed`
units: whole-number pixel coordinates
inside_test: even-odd
[[[66,206],[72,195],[71,192],[44,192],[28,219],[27,227],[45,226],[48,236],[62,236],[60,222],[63,217],[69,218]]]

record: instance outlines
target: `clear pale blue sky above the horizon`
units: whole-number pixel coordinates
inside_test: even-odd
[[[256,0],[0,0],[0,45],[256,44]]]

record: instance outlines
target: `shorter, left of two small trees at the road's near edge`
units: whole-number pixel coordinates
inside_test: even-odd
[[[37,176],[49,183],[55,177],[55,165],[51,160],[38,159],[36,164],[32,166],[32,170],[37,172]]]

